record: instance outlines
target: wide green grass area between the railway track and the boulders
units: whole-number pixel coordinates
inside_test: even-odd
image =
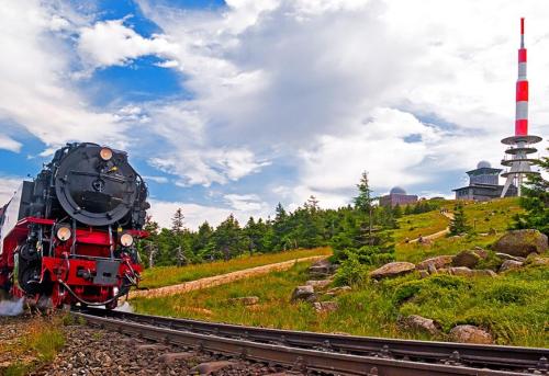
[[[287,272],[206,290],[137,298],[132,305],[138,312],[153,315],[422,340],[447,340],[452,327],[470,323],[490,330],[498,344],[549,345],[548,266],[528,266],[497,278],[434,275],[418,280],[414,273],[380,283],[369,282],[336,298],[339,308],[329,314],[317,314],[310,304],[290,303],[293,288],[309,278],[307,266],[309,263],[303,262]],[[251,295],[259,297],[258,305],[228,303],[231,298]],[[402,329],[399,318],[413,314],[435,319],[441,324],[442,333],[430,337]]]

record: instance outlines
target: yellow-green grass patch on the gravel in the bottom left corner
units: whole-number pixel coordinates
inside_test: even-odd
[[[64,320],[59,317],[30,320],[25,333],[19,341],[9,347],[0,349],[0,351],[8,351],[16,360],[15,363],[0,369],[0,375],[26,375],[38,369],[43,364],[52,362],[65,345],[63,324]]]

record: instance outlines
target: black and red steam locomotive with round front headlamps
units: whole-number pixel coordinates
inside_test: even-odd
[[[67,144],[0,208],[0,290],[115,308],[139,282],[147,194],[126,152]]]

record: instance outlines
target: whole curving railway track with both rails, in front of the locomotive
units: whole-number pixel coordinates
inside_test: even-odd
[[[203,351],[337,375],[549,375],[548,349],[298,332],[103,309],[89,324]]]

